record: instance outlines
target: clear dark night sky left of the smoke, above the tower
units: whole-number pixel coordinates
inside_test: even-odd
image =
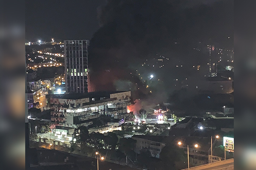
[[[26,0],[26,40],[90,40],[105,0]]]

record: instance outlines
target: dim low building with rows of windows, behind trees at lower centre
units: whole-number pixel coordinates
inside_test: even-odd
[[[159,158],[163,147],[166,146],[166,144],[163,143],[165,136],[134,135],[131,138],[137,141],[134,150],[136,153],[140,154],[141,150],[149,150],[151,156],[156,158]]]

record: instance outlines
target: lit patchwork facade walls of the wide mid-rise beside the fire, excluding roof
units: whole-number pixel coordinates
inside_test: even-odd
[[[92,125],[93,122],[88,120],[99,118],[100,115],[111,115],[115,119],[128,119],[131,117],[131,113],[126,112],[126,107],[131,105],[129,94],[131,93],[122,92],[112,95],[111,99],[92,102],[89,98],[77,100],[51,98],[51,121],[61,126],[79,127]],[[108,108],[108,106],[114,107]]]

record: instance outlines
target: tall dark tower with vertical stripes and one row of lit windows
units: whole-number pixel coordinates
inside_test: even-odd
[[[88,92],[89,40],[65,40],[65,75],[67,93]]]

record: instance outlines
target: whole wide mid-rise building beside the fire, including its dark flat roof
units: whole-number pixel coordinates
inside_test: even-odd
[[[55,94],[51,96],[51,121],[55,125],[77,128],[99,127],[108,122],[130,119],[131,91]]]

